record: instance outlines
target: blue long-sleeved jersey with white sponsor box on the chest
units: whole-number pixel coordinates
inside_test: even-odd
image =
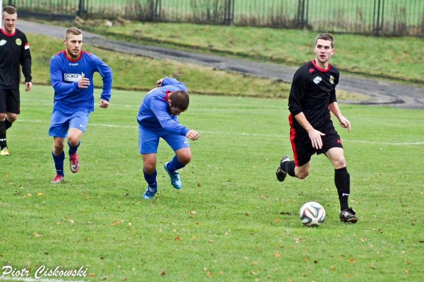
[[[63,50],[50,59],[50,80],[54,89],[53,109],[73,112],[94,111],[93,74],[100,73],[103,79],[101,99],[109,101],[112,87],[112,70],[96,55],[81,50],[80,57],[71,60]],[[84,73],[90,80],[88,88],[79,88],[78,80]]]

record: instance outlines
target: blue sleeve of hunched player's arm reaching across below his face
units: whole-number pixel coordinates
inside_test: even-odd
[[[177,118],[173,119],[171,117],[168,112],[167,103],[164,103],[164,101],[159,98],[155,98],[150,103],[150,109],[155,114],[163,129],[175,134],[186,136],[189,129],[184,125],[181,125],[181,123],[177,121]]]

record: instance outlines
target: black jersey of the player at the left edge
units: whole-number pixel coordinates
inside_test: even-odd
[[[31,53],[25,34],[19,29],[11,34],[0,29],[0,88],[19,89],[20,66],[25,82],[31,82]]]

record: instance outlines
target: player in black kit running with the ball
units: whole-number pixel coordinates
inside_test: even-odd
[[[330,111],[340,125],[350,132],[350,122],[337,105],[335,86],[339,71],[330,65],[334,54],[334,37],[321,33],[315,39],[315,60],[300,67],[294,77],[289,95],[290,142],[294,161],[284,156],[277,167],[277,179],[287,174],[305,179],[310,172],[311,157],[324,154],[334,167],[334,183],[340,201],[340,220],[355,223],[358,217],[349,207],[350,176],[346,169],[340,136],[334,129]]]

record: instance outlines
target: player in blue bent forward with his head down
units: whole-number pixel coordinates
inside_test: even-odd
[[[195,130],[183,126],[177,116],[189,106],[186,86],[173,78],[162,78],[157,88],[146,94],[137,115],[139,152],[143,157],[143,173],[147,189],[143,198],[152,198],[157,191],[156,154],[159,138],[174,150],[175,156],[164,165],[174,188],[182,187],[177,170],[184,168],[192,158],[189,141],[199,139]]]

